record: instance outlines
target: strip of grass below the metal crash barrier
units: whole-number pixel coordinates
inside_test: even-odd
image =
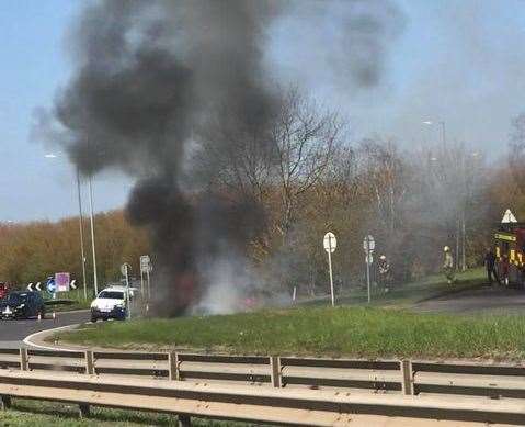
[[[197,427],[246,426],[244,424],[219,423],[192,418]],[[138,427],[138,426],[179,426],[176,417],[134,411],[117,411],[92,407],[87,419],[78,419],[78,406],[14,400],[10,411],[0,413],[0,427]]]

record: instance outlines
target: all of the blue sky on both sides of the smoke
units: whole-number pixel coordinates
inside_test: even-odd
[[[355,88],[330,66],[341,58],[327,54],[334,36],[329,21],[308,31],[277,22],[267,47],[273,72],[340,109],[356,141],[379,134],[412,149],[438,141],[437,126],[422,122],[444,121],[450,141],[482,149],[489,158],[502,156],[511,119],[525,111],[525,1],[393,2],[401,16],[386,43],[377,87]],[[0,2],[0,222],[78,213],[75,169],[58,146],[44,143],[32,128],[35,111],[53,104],[73,69],[68,29],[84,3]],[[57,157],[46,158],[49,153]],[[95,211],[122,207],[130,187],[116,172],[96,176]],[[87,196],[83,186],[84,207]]]

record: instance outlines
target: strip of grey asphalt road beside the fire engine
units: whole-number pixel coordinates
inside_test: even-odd
[[[525,290],[487,286],[424,301],[416,304],[414,310],[443,313],[525,313]]]

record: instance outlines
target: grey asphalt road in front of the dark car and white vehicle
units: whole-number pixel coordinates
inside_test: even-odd
[[[23,346],[25,337],[44,329],[89,322],[90,313],[89,311],[57,313],[56,319],[50,318],[49,314],[46,317],[43,321],[0,321],[0,348],[19,348]]]

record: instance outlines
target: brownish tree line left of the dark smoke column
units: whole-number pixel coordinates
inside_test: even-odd
[[[123,211],[95,215],[96,269],[101,283],[118,280],[119,266],[129,262],[139,271],[140,255],[148,254],[145,229],[133,227]],[[87,222],[85,222],[87,223]],[[88,224],[84,224],[89,236]],[[45,282],[56,272],[70,272],[82,284],[79,218],[58,222],[38,221],[26,224],[0,224],[0,281],[16,286]],[[93,283],[91,239],[85,238],[87,282]]]

